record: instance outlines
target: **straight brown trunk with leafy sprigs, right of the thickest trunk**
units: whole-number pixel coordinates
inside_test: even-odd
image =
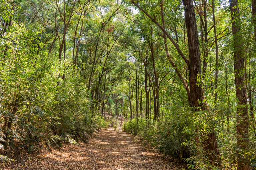
[[[237,170],[249,170],[249,159],[244,153],[249,146],[248,106],[244,74],[244,51],[240,32],[238,0],[229,0],[234,40],[234,71],[237,97]]]

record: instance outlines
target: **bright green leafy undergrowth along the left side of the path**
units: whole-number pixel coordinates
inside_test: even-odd
[[[59,63],[56,53],[48,54],[41,25],[36,31],[33,24],[17,23],[13,8],[4,1],[0,8],[4,24],[12,21],[5,32],[1,26],[0,148],[14,139],[25,141],[29,152],[87,141],[105,121],[90,117],[89,90],[83,77],[74,74],[76,66],[70,59]],[[1,159],[9,160],[2,155]]]

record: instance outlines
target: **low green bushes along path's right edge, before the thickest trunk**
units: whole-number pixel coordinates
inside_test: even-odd
[[[132,122],[123,125],[123,130],[138,135],[144,144],[149,144],[165,154],[177,158],[188,158],[194,152],[191,147],[183,144],[191,137],[183,130],[187,126],[186,116],[182,112],[168,115],[170,116],[161,117],[155,123],[151,122],[149,127],[146,126],[144,119],[142,122],[138,121],[138,125],[136,119],[133,119]]]

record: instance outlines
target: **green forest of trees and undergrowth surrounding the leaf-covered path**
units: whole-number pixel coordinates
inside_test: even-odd
[[[1,161],[121,118],[190,169],[256,169],[256,0],[0,0],[0,22]]]

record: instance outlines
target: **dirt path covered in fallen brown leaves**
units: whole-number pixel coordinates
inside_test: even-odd
[[[89,143],[64,144],[44,154],[32,154],[23,164],[1,163],[0,169],[20,170],[182,170],[171,161],[142,146],[133,135],[110,127],[95,133]]]

